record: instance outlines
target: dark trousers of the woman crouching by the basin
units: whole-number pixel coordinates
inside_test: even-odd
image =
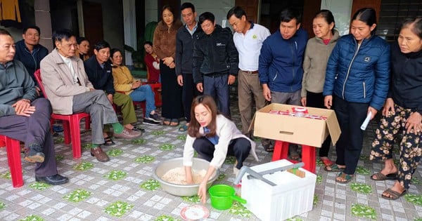
[[[230,141],[229,149],[227,149],[227,156],[236,157],[238,164],[236,168],[239,170],[243,166],[243,161],[249,156],[250,141],[246,138],[236,138]],[[205,160],[211,161],[214,158],[215,145],[207,138],[196,138],[193,142],[193,149]]]

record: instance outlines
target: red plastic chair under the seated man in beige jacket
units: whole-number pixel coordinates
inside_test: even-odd
[[[39,69],[34,73],[35,79],[41,88],[44,97],[47,98],[46,92],[44,91],[44,85],[41,80],[41,72]],[[48,99],[48,98],[47,98]],[[91,118],[88,113],[82,112],[77,114],[63,115],[63,114],[51,114],[51,118],[55,120],[63,121],[63,129],[65,135],[65,144],[68,145],[72,142],[73,158],[78,159],[81,157],[81,129],[79,127],[81,119],[85,119],[85,130],[89,130]]]

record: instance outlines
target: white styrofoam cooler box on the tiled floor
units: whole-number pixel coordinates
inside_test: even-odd
[[[290,164],[293,163],[281,159],[252,166],[251,169],[260,173]],[[242,178],[241,197],[247,201],[246,208],[263,221],[286,220],[312,210],[316,175],[303,168],[299,170],[305,172],[305,178],[287,171],[264,175],[264,178],[276,184],[274,187],[262,180],[248,179],[246,176],[249,174],[245,173]]]

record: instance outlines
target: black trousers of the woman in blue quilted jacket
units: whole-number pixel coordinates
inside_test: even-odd
[[[334,96],[333,107],[340,124],[341,135],[335,145],[338,165],[345,165],[346,174],[354,174],[362,152],[364,131],[360,126],[366,118],[368,103],[347,102]]]

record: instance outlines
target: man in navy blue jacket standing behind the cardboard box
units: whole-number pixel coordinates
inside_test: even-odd
[[[264,98],[272,103],[300,105],[303,54],[308,39],[300,28],[302,15],[293,8],[280,13],[280,29],[262,43],[258,73]],[[290,158],[299,159],[297,145],[290,145]]]

